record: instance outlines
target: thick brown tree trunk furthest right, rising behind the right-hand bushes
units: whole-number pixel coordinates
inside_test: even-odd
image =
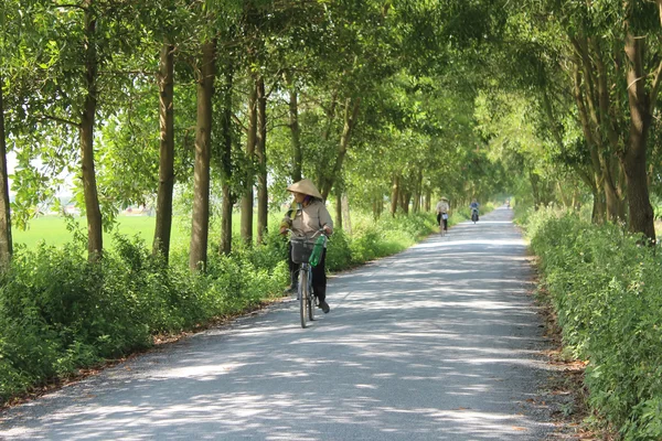
[[[645,149],[651,126],[651,101],[656,99],[656,84],[660,69],[654,78],[651,97],[645,90],[643,69],[644,41],[634,37],[628,30],[626,35],[626,55],[628,58],[628,104],[630,106],[630,136],[622,163],[628,186],[630,206],[630,230],[642,233],[652,243],[655,240],[653,208],[650,202],[645,176]],[[662,67],[662,64],[660,65]],[[654,103],[654,101],[652,101]]]

